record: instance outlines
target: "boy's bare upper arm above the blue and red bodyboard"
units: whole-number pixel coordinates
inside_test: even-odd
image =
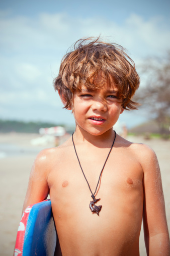
[[[48,196],[49,187],[47,177],[50,169],[48,150],[42,150],[33,164],[24,200],[23,212],[30,204],[40,202]]]

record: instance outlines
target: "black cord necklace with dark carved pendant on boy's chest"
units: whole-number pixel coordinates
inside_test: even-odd
[[[114,131],[114,132],[115,132],[115,131]],[[74,134],[74,133],[73,133],[73,134]],[[83,170],[82,170],[81,164],[80,164],[80,162],[79,162],[78,155],[77,155],[77,152],[76,152],[76,149],[75,149],[75,145],[74,145],[74,141],[73,141],[73,134],[72,134],[72,143],[73,143],[73,146],[74,146],[75,155],[76,155],[76,157],[77,157],[77,160],[78,160],[79,166],[80,166],[80,168],[81,168],[82,174],[84,175],[84,178],[86,179],[86,181],[87,181],[87,183],[88,183],[88,186],[89,186],[89,189],[90,189],[90,191],[91,191],[91,193],[92,193],[91,196],[92,196],[92,198],[93,198],[93,201],[90,202],[89,207],[90,207],[90,209],[91,209],[92,212],[96,212],[97,215],[99,216],[99,212],[101,211],[102,206],[96,206],[96,205],[95,205],[95,202],[97,202],[97,201],[100,200],[100,198],[99,198],[99,199],[96,199],[96,198],[95,198],[95,193],[96,193],[96,190],[97,190],[97,188],[98,188],[99,181],[100,181],[100,179],[101,179],[101,175],[102,175],[103,169],[104,169],[104,167],[105,167],[105,165],[106,165],[106,162],[107,162],[107,160],[108,160],[108,158],[109,158],[110,152],[111,152],[112,147],[113,147],[113,145],[114,145],[114,142],[115,142],[115,139],[116,139],[116,132],[115,132],[115,138],[114,138],[114,140],[113,140],[112,146],[111,146],[111,148],[110,148],[110,151],[109,151],[109,153],[108,153],[108,156],[107,156],[107,158],[106,158],[106,161],[105,161],[105,163],[104,163],[104,166],[103,166],[103,168],[102,168],[102,171],[101,171],[101,173],[100,173],[100,176],[99,176],[98,184],[97,184],[97,186],[96,186],[95,193],[92,192],[91,187],[90,187],[90,185],[89,185],[89,182],[88,182],[88,180],[87,180],[87,178],[86,178],[86,176],[85,176],[85,174],[84,174],[84,172],[83,172]]]

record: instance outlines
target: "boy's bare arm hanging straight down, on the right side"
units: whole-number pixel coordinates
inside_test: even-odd
[[[146,145],[142,147],[140,152],[144,172],[143,228],[146,251],[149,256],[168,256],[170,245],[159,164],[154,151]]]

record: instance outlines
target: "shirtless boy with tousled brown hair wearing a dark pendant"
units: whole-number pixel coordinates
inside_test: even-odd
[[[169,255],[155,153],[113,130],[124,110],[136,109],[139,83],[123,48],[99,38],[77,41],[62,59],[54,87],[75,132],[37,156],[23,211],[50,194],[63,256],[137,256],[142,217],[147,255]]]

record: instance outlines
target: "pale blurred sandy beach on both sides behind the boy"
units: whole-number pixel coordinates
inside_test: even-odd
[[[0,134],[0,224],[1,241],[0,255],[13,255],[15,239],[28,179],[33,161],[37,153],[48,145],[33,146],[30,141],[38,134]],[[145,143],[156,152],[162,177],[168,229],[170,228],[170,141],[160,139],[144,140],[142,137],[128,137],[132,142]],[[140,236],[140,255],[146,255],[143,229]]]

